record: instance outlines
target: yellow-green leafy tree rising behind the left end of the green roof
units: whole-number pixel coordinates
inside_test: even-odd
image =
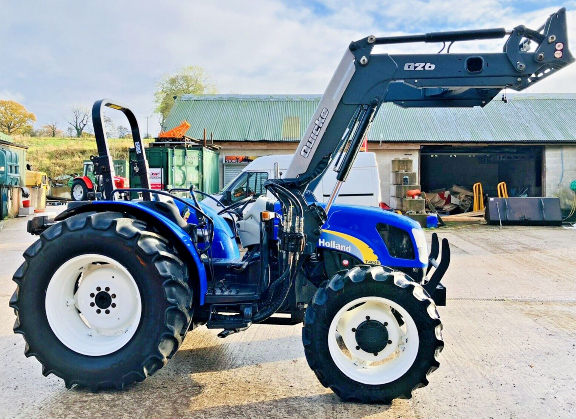
[[[154,103],[156,103],[154,112],[160,116],[160,124],[164,125],[174,104],[175,96],[213,93],[217,93],[216,85],[203,67],[180,67],[174,72],[160,76],[154,93]]]

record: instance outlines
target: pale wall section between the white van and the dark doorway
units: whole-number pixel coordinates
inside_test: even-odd
[[[380,189],[382,192],[382,201],[390,205],[390,171],[392,169],[392,160],[396,158],[412,159],[412,171],[416,172],[416,183],[419,179],[419,144],[373,144],[368,143],[368,151],[376,153],[376,163],[378,164],[378,174],[380,175]]]

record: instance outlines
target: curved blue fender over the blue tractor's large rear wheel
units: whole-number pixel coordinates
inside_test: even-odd
[[[75,216],[76,214],[90,211],[112,211],[130,214],[157,228],[166,239],[170,240],[179,248],[181,255],[188,256],[185,262],[188,263],[189,269],[195,270],[198,275],[197,283],[189,283],[189,285],[193,287],[196,293],[194,298],[195,301],[198,302],[198,305],[204,304],[204,296],[207,290],[206,270],[204,270],[204,264],[202,260],[200,260],[198,252],[196,252],[191,237],[184,232],[184,230],[153,209],[131,201],[79,201],[70,203],[68,209],[54,217],[54,221],[66,220],[66,218]],[[192,275],[189,275],[189,277],[190,276]]]

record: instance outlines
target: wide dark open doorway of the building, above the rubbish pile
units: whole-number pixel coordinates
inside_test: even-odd
[[[420,186],[423,191],[433,191],[458,184],[472,190],[473,184],[480,182],[484,194],[497,197],[498,183],[506,182],[510,197],[541,197],[543,148],[425,145],[420,149]]]

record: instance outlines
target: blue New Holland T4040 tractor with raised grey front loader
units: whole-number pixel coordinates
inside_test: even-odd
[[[495,53],[372,53],[376,45],[505,36],[503,51]],[[92,161],[102,176],[101,199],[70,203],[53,220],[31,220],[29,232],[40,237],[14,274],[10,306],[25,355],[66,387],[123,389],[160,370],[200,325],[226,337],[257,324],[303,322],[304,353],[323,386],[345,400],[410,398],[439,366],[444,342],[437,306],[445,305],[440,281],[450,250],[444,239],[440,251],[434,235],[428,253],[425,233],[407,217],[335,203],[370,123],[385,102],[484,106],[503,88],[524,90],[572,61],[565,9],[536,30],[355,41],[284,178],[267,181],[276,198],[247,197],[218,211],[199,203],[193,187],[187,198],[151,190],[134,114],[121,103],[97,101]],[[115,189],[102,123],[106,106],[130,122],[132,175],[142,185],[130,195],[141,198],[130,201],[126,189]],[[320,204],[310,191],[333,159],[338,182]],[[224,213],[255,223],[257,243],[243,256]]]

